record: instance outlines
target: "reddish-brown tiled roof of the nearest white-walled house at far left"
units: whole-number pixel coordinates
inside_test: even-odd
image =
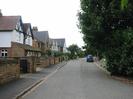
[[[21,16],[0,16],[0,30],[14,30]]]

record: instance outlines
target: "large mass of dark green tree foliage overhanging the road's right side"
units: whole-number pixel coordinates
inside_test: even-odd
[[[130,71],[133,68],[131,51],[133,1],[80,0],[80,2],[79,28],[84,34],[86,48],[104,56],[110,72],[133,74],[133,71]],[[130,58],[126,58],[128,56]]]

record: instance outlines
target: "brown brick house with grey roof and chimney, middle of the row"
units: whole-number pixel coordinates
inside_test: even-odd
[[[37,27],[33,27],[34,38],[39,41],[38,46],[41,48],[42,53],[50,50],[50,39],[48,31],[38,31]]]

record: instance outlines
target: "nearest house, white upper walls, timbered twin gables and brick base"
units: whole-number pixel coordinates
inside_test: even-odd
[[[36,55],[40,49],[32,47],[32,39],[31,25],[23,24],[21,16],[3,16],[0,12],[0,57]]]

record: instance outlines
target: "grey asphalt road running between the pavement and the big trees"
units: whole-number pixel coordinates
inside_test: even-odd
[[[68,62],[23,99],[133,99],[133,85],[80,59]]]

